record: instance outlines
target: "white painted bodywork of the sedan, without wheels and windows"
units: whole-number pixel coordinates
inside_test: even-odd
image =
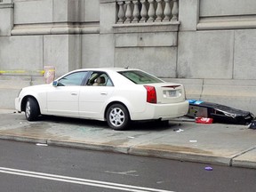
[[[67,76],[78,76],[77,74],[85,74],[88,76],[87,81],[89,82],[94,73],[101,72],[103,76],[107,76],[108,82],[101,86],[89,83],[87,85],[84,82],[83,85],[42,84],[25,87],[15,99],[15,108],[19,112],[25,111],[26,100],[30,97],[38,103],[41,115],[78,117],[100,121],[106,120],[108,107],[113,103],[120,103],[127,108],[132,121],[169,120],[188,113],[188,100],[185,98],[183,85],[166,83],[160,79],[159,81],[162,82],[154,84],[134,84],[130,79],[121,75],[120,71],[140,72],[139,69],[132,68],[77,69],[60,76],[55,83],[65,82]],[[89,76],[88,73],[91,75]],[[72,80],[72,78],[70,79]],[[148,93],[144,85],[155,87],[156,103],[147,102]],[[172,92],[173,95],[171,95]]]

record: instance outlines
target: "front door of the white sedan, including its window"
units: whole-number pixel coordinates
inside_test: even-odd
[[[47,92],[48,114],[78,117],[78,100],[87,71],[74,72],[58,80],[57,86]]]

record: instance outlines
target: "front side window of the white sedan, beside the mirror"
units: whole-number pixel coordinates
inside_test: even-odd
[[[80,71],[64,76],[59,80],[58,86],[79,86],[83,84],[87,71]]]

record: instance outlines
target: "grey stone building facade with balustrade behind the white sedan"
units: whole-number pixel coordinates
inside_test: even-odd
[[[255,0],[0,0],[0,108],[76,68],[141,68],[256,114]]]

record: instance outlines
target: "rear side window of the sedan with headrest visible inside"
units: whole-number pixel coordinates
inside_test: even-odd
[[[100,71],[92,72],[86,85],[92,86],[114,86],[108,74]]]

